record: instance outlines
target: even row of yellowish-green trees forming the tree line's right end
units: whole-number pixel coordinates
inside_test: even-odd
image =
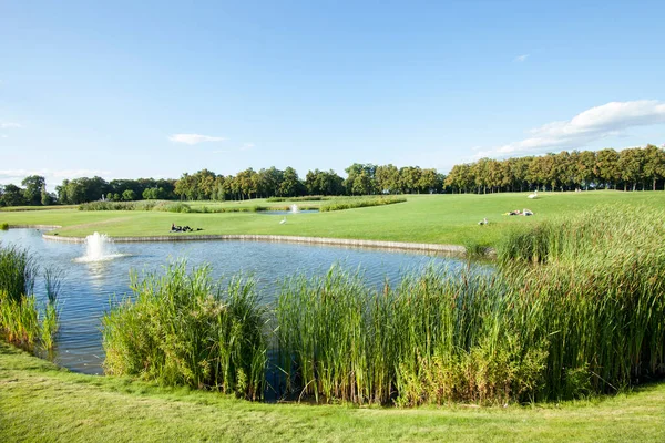
[[[453,193],[522,192],[526,189],[663,188],[665,151],[654,145],[623,151],[562,151],[503,161],[481,158],[456,165],[446,177]]]

